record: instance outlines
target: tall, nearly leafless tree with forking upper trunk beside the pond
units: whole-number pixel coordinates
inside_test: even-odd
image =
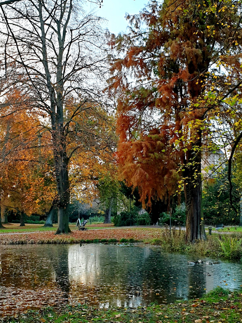
[[[67,138],[75,129],[74,118],[86,109],[87,102],[99,100],[101,93],[106,72],[101,18],[85,15],[73,0],[11,1],[1,10],[2,68],[12,84],[28,90],[31,108],[41,111],[45,128],[51,132],[58,193],[56,234],[67,233],[68,163],[78,150],[78,144],[67,147]],[[6,73],[13,64],[15,68]],[[8,85],[5,91],[9,90]],[[79,103],[67,116],[66,101],[77,98]]]

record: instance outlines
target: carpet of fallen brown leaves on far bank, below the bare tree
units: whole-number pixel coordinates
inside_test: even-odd
[[[53,231],[23,233],[23,234],[0,234],[0,244],[35,244],[35,243],[78,243],[94,239],[134,239],[143,241],[146,239],[159,238],[160,228],[122,228],[100,230],[75,230],[71,234],[55,235]]]

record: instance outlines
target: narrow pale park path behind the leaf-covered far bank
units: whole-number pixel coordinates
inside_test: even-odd
[[[133,225],[133,226],[119,226],[119,227],[109,227],[109,228],[100,228],[100,229],[91,229],[88,228],[88,230],[116,230],[116,229],[134,229],[134,228],[152,228],[152,229],[164,229],[165,226],[158,226],[158,225]],[[176,227],[176,230],[179,230],[179,227]],[[185,231],[186,227],[185,226],[181,226],[181,230]],[[54,230],[53,230],[54,231]],[[73,230],[75,231],[75,230]],[[78,231],[78,230],[77,230]],[[205,229],[205,231],[208,233],[208,229]],[[8,233],[0,233],[0,236],[2,235],[15,235],[15,234],[35,234],[35,233],[41,233],[41,232],[49,232],[49,231],[33,231],[33,232],[8,232]],[[233,231],[234,232],[234,231]],[[212,233],[219,233],[219,234],[231,234],[233,232],[229,232],[229,231],[220,231],[218,232],[217,230],[212,230]]]

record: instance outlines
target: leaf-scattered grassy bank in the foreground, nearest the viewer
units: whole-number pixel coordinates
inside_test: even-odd
[[[242,294],[217,287],[201,299],[147,307],[100,309],[85,304],[25,311],[14,317],[2,316],[4,323],[238,323],[241,322]]]

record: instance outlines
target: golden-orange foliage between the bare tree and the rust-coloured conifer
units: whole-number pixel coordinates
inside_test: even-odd
[[[75,109],[70,100],[68,114]],[[67,138],[71,195],[81,203],[91,203],[100,196],[100,181],[114,173],[115,119],[100,104],[86,103],[73,121],[72,135]]]

